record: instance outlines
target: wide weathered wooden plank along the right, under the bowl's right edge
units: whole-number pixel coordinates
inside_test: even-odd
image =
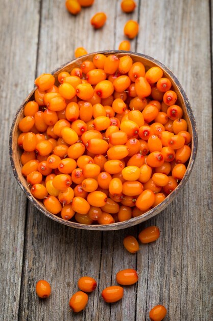
[[[142,291],[137,293],[136,319],[148,320],[151,307],[165,304],[165,320],[208,320],[212,318],[209,3],[174,1],[171,6],[169,1],[151,1],[141,6],[140,28],[144,36],[138,39],[137,50],[165,63],[183,85],[195,113],[199,146],[183,191],[167,210],[143,225],[156,224],[161,237],[138,253],[137,268],[145,268],[145,273],[138,283]]]

